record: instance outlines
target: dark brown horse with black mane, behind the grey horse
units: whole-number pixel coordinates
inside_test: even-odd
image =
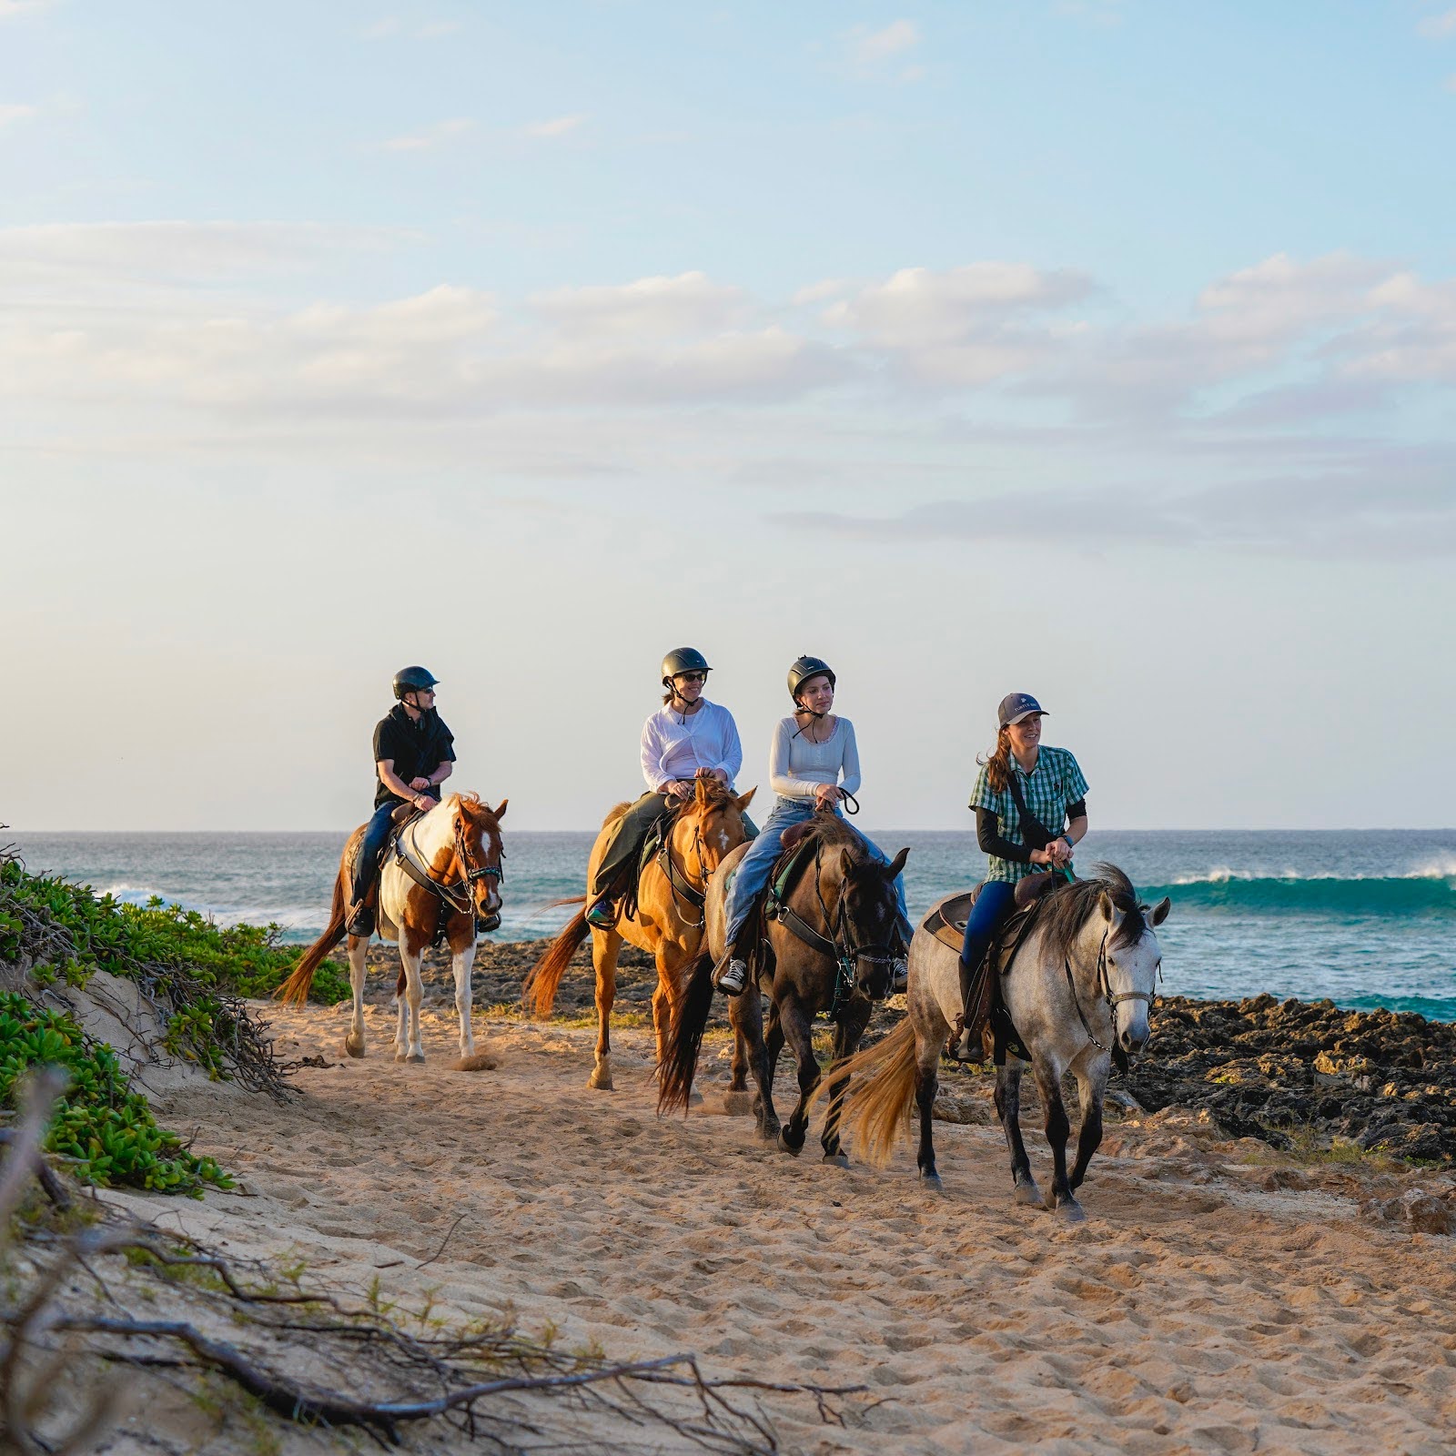
[[[747,1089],[747,1070],[759,1093],[753,1101],[759,1134],[778,1139],[795,1156],[804,1147],[810,1095],[820,1080],[814,1056],[814,1016],[824,1012],[834,1024],[834,1064],[853,1056],[869,1025],[877,1000],[891,989],[893,942],[900,919],[895,877],[904,868],[909,849],[881,865],[865,850],[865,842],[837,814],[815,814],[804,836],[804,853],[812,852],[798,884],[789,891],[783,913],[767,926],[772,957],[769,1028],[763,1026],[759,981],[750,977],[740,996],[728,1003],[734,1029],[732,1083],[729,1095]],[[687,1107],[693,1091],[703,1026],[712,1006],[713,965],[724,957],[725,901],[728,878],[743,855],[729,855],[708,894],[708,954],[699,957],[693,978],[673,1018],[673,1034],[662,1061],[658,1111]],[[764,971],[767,978],[770,971]],[[785,1040],[799,1063],[799,1101],[780,1128],[773,1109],[773,1073]],[[844,1163],[839,1144],[839,1109],[844,1080],[837,1083],[820,1139],[824,1158]]]

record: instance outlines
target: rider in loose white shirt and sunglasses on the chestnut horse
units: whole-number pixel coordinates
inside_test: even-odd
[[[671,804],[693,796],[693,779],[713,778],[732,788],[743,767],[743,747],[732,713],[703,697],[712,668],[697,648],[680,646],[662,658],[662,706],[642,725],[642,778],[646,794],[616,823],[591,887],[587,923],[598,930],[616,925],[616,897],[654,820]],[[744,827],[753,824],[744,815]]]

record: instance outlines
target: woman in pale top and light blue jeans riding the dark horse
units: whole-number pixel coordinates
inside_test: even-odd
[[[794,716],[780,721],[769,753],[769,786],[778,798],[759,837],[740,860],[728,891],[728,960],[718,971],[716,984],[729,996],[737,996],[748,981],[748,948],[740,945],[738,938],[769,884],[783,831],[821,808],[839,814],[844,796],[852,796],[859,788],[855,725],[830,712],[834,706],[834,671],[823,658],[801,657],[789,668]],[[859,837],[879,863],[890,863],[877,844],[863,834]],[[897,990],[904,990],[904,951],[910,945],[911,927],[906,911],[904,881],[900,877],[895,877],[895,895],[900,900],[901,949],[895,958],[894,983]]]

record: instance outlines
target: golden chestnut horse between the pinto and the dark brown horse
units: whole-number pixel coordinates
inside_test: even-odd
[[[750,789],[747,794],[734,795],[716,779],[696,779],[693,796],[673,817],[661,852],[642,869],[635,913],[623,914],[614,930],[590,927],[600,1026],[596,1066],[591,1069],[587,1086],[612,1091],[612,1003],[617,994],[617,955],[623,941],[657,958],[652,1026],[657,1032],[658,1061],[662,1060],[668,1022],[681,987],[683,967],[697,955],[703,941],[703,895],[708,882],[722,858],[744,843],[743,812],[756,792]],[[626,808],[626,804],[619,804],[601,824],[601,833],[587,863],[588,891],[607,847],[607,828]],[[521,993],[537,1016],[550,1015],[552,1006],[556,1005],[561,978],[566,974],[577,946],[587,938],[587,911],[581,910],[531,967]]]

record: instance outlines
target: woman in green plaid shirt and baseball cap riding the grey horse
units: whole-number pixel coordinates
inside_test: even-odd
[[[1088,780],[1066,748],[1041,745],[1041,703],[1031,693],[1010,693],[996,716],[996,751],[981,761],[971,789],[976,842],[990,858],[990,874],[965,923],[961,992],[967,996],[996,927],[1010,913],[1016,882],[1069,866],[1073,846],[1088,831]],[[964,1041],[958,1048],[965,1056],[971,1050]]]

